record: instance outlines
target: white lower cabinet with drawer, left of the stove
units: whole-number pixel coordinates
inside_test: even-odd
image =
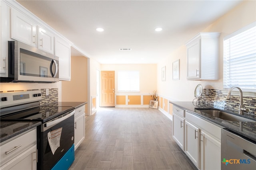
[[[36,129],[1,143],[1,170],[36,170]]]

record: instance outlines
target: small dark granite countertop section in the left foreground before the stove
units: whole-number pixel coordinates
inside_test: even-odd
[[[0,143],[39,125],[40,121],[0,121]]]

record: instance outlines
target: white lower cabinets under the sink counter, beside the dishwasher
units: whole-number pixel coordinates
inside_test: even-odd
[[[172,135],[199,170],[220,170],[221,127],[173,106]]]

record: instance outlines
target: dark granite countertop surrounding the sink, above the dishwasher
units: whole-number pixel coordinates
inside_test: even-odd
[[[219,125],[220,127],[229,129],[230,131],[237,133],[238,135],[240,135],[242,137],[248,138],[249,140],[256,142],[256,122],[242,122],[243,128],[240,129],[241,123],[238,121],[223,120],[223,119],[214,117],[212,115],[209,115],[207,113],[202,113],[202,111],[200,111],[196,108],[216,108],[216,109],[221,109],[221,110],[230,112],[230,114],[238,115],[238,112],[236,112],[236,111],[230,111],[230,110],[223,109],[220,107],[211,107],[211,106],[205,106],[205,105],[204,106],[195,106],[193,104],[193,102],[172,102],[172,101],[170,101],[170,103],[172,103],[182,109],[190,111],[194,115],[197,115],[198,117],[202,117],[203,119],[206,119],[207,121],[210,121],[216,125]],[[244,114],[244,115],[240,115],[240,116],[256,121],[256,115]],[[185,115],[185,117],[186,117],[186,115]]]

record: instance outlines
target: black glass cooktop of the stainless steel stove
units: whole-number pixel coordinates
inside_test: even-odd
[[[58,103],[48,104],[44,106],[38,106],[22,111],[17,111],[16,113],[11,113],[1,117],[1,120],[8,121],[42,121],[42,123],[47,122],[59,115],[72,111],[74,107],[65,106],[59,107]]]

